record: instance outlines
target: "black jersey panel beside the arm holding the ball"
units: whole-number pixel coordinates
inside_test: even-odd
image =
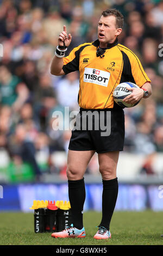
[[[135,80],[131,71],[131,64],[130,64],[129,57],[125,52],[123,51],[121,52],[123,56],[123,70],[122,70],[120,83],[123,83],[123,82],[135,83]]]

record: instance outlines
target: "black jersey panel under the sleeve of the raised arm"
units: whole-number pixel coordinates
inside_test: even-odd
[[[80,47],[76,52],[75,52],[75,58],[71,60],[71,62],[68,62],[66,65],[63,66],[62,70],[64,70],[65,74],[71,73],[73,71],[79,70],[79,57],[80,57],[80,52],[83,51],[83,49],[86,46],[89,45],[83,45]]]

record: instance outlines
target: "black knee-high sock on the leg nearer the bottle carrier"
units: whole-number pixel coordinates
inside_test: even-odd
[[[68,196],[72,211],[72,223],[77,229],[83,228],[83,206],[85,202],[85,184],[82,180],[68,180]]]

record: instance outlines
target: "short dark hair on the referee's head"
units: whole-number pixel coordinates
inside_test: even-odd
[[[106,9],[105,11],[102,12],[102,16],[104,16],[104,17],[108,17],[108,16],[111,16],[111,15],[116,17],[116,27],[117,28],[122,28],[124,17],[120,13],[120,11],[118,11],[116,9]]]

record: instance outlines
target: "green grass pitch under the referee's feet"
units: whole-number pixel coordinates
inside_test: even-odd
[[[34,214],[0,213],[0,245],[163,245],[163,212],[114,212],[110,240],[95,240],[101,212],[84,213],[84,239],[54,239],[34,233]]]

